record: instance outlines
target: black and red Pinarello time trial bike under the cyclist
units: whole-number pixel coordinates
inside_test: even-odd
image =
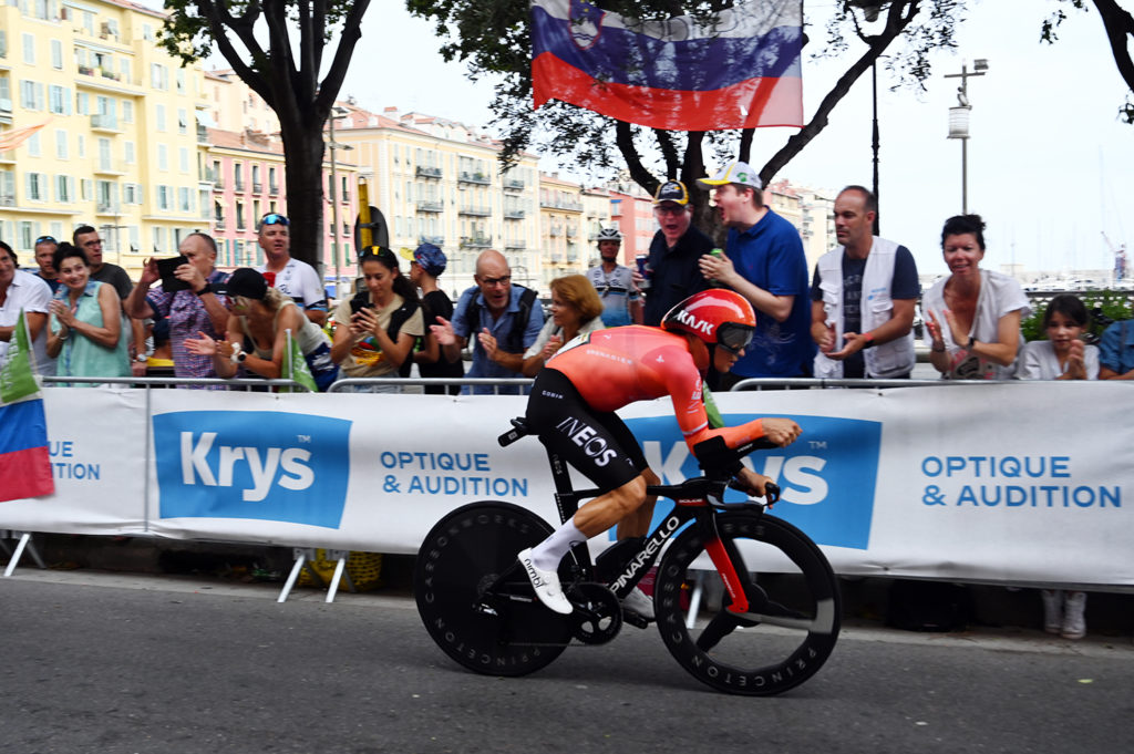
[[[508,446],[528,434],[515,418],[500,435]],[[661,559],[653,604],[662,641],[699,680],[728,693],[779,694],[811,678],[839,634],[838,582],[822,551],[798,528],[769,515],[778,499],[725,502],[736,464],[772,447],[755,440],[735,449],[714,438],[694,450],[703,476],[648,489],[674,501],[654,531],[623,540],[591,558],[585,543],[559,568],[574,608],[564,616],[535,596],[516,554],[551,534],[521,506],[480,501],[439,520],[417,553],[414,593],[430,636],[452,660],[476,672],[523,676],[545,667],[567,646],[611,641],[624,622],[648,620],[619,600]],[[574,490],[567,465],[548,451],[561,520],[581,500],[603,490]],[[701,600],[712,571],[723,584],[720,604]],[[713,591],[716,590],[705,590]]]

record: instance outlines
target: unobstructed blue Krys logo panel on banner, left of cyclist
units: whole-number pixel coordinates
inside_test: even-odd
[[[276,412],[153,417],[161,517],[256,518],[338,528],[350,422]]]

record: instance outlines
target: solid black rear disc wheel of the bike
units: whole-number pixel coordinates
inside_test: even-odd
[[[430,531],[414,568],[417,612],[438,646],[493,676],[534,672],[564,651],[574,624],[535,599],[516,553],[551,534],[508,502],[474,502]]]

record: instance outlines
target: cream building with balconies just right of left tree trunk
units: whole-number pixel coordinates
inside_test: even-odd
[[[486,248],[507,257],[515,282],[541,287],[534,155],[501,173],[499,142],[464,124],[338,107],[347,115],[335,119],[335,141],[350,147],[346,154],[367,180],[391,247],[440,246],[448,257],[440,283],[450,295],[473,285],[476,256]]]

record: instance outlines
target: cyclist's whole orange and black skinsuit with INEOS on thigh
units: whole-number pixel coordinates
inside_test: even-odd
[[[730,448],[763,437],[760,420],[711,429],[703,379],[684,336],[641,325],[599,330],[548,361],[532,386],[528,424],[592,482],[616,489],[646,468],[637,440],[615,414],[636,400],[670,396],[691,450],[717,435]]]

